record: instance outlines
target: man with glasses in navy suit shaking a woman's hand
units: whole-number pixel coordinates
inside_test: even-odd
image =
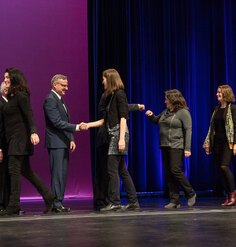
[[[46,121],[46,147],[51,167],[51,189],[56,195],[53,205],[54,212],[69,212],[63,206],[69,151],[75,150],[73,133],[79,131],[79,124],[69,123],[69,112],[62,100],[68,90],[67,77],[61,74],[53,76],[52,90],[44,101]]]

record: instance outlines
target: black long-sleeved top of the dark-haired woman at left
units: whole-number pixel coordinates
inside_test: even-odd
[[[31,155],[33,145],[30,136],[37,133],[29,95],[17,92],[9,97],[3,108],[5,137],[8,155]]]

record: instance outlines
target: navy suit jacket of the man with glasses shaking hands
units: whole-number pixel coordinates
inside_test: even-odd
[[[47,148],[69,148],[74,140],[76,124],[69,123],[68,109],[54,92],[50,92],[43,105],[46,121],[45,145]]]

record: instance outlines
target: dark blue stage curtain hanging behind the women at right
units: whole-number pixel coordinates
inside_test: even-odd
[[[88,3],[91,120],[97,118],[101,75],[106,68],[120,72],[130,103],[144,103],[155,114],[165,108],[164,91],[179,89],[193,120],[192,156],[184,164],[186,175],[196,190],[217,189],[218,173],[202,144],[217,104],[217,86],[230,84],[236,89],[236,1]],[[138,112],[130,114],[129,128],[128,166],[137,191],[164,190],[158,126]],[[95,133],[93,154],[94,138]]]

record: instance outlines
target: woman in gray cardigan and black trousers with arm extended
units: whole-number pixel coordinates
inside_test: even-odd
[[[191,155],[192,120],[186,101],[177,89],[165,92],[166,109],[158,116],[148,110],[146,115],[160,127],[160,147],[169,189],[170,202],[165,208],[179,208],[179,185],[188,198],[188,206],[196,202],[196,193],[185,177],[181,164]]]

